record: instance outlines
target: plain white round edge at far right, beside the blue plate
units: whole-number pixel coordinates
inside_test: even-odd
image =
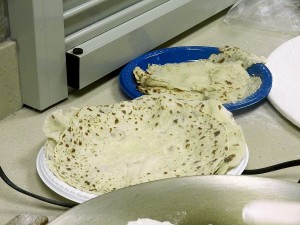
[[[268,100],[285,118],[300,127],[300,36],[275,49],[266,65],[273,76]]]

